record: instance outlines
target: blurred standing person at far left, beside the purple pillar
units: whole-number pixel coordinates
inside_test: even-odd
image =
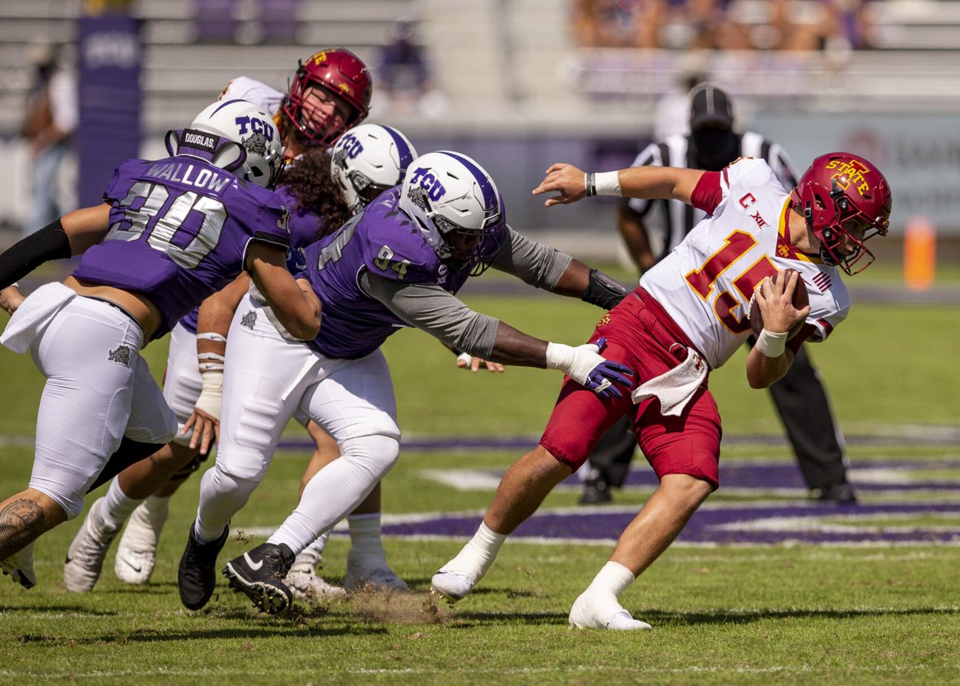
[[[57,175],[78,119],[77,84],[72,74],[58,66],[56,46],[46,41],[32,43],[28,59],[34,67],[34,83],[27,96],[23,137],[30,146],[33,173],[25,233],[65,213],[57,203]]]

